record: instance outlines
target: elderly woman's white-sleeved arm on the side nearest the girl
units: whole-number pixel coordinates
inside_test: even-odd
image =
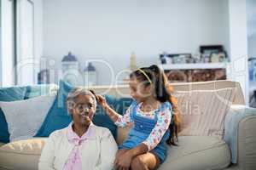
[[[109,170],[113,168],[113,161],[118,150],[117,144],[108,129],[103,131],[101,139],[101,169]]]

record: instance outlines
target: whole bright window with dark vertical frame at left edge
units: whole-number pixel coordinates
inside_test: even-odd
[[[0,86],[34,84],[34,3],[0,0]]]

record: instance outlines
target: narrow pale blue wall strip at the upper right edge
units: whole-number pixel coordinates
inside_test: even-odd
[[[247,0],[248,56],[256,57],[256,1]]]

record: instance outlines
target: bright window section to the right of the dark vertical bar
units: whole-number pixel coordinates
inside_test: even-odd
[[[34,3],[17,1],[17,84],[35,83]]]

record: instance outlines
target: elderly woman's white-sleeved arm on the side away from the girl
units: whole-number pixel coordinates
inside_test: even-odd
[[[38,162],[38,170],[54,170],[53,162],[55,159],[55,142],[52,135],[44,145],[41,156]]]

